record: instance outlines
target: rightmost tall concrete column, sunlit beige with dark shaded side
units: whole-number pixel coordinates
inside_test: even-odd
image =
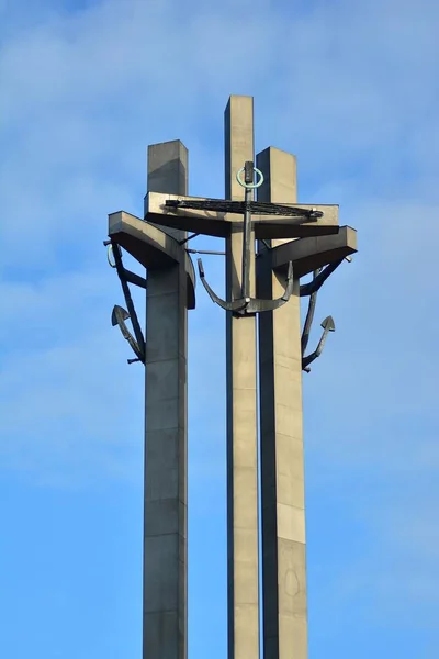
[[[258,154],[259,201],[297,201],[296,161]],[[288,241],[271,241],[277,246]],[[261,244],[260,249],[266,247]],[[267,260],[267,259],[263,259]],[[278,298],[284,281],[258,272],[258,297]],[[306,547],[299,280],[290,301],[259,314],[262,583],[264,659],[306,659]]]

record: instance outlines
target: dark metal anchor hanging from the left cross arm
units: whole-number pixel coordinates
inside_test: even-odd
[[[115,268],[117,271],[126,306],[128,308],[128,311],[126,311],[126,309],[124,309],[123,306],[115,304],[111,314],[111,324],[113,325],[113,327],[115,325],[119,325],[122,332],[122,336],[128,342],[131,348],[133,349],[133,353],[136,355],[135,359],[127,359],[127,362],[134,364],[135,361],[142,361],[142,364],[145,364],[145,339],[140,328],[140,324],[138,322],[136,310],[134,308],[133,299],[131,297],[128,281],[142,288],[146,288],[146,279],[143,279],[138,275],[135,275],[134,272],[131,272],[130,270],[126,270],[123,267],[122,250],[117,243],[114,243],[113,241],[105,241],[104,245],[109,249],[109,264],[112,268]],[[114,264],[111,263],[110,254],[113,254]],[[131,319],[131,322],[133,324],[135,338],[126,326],[125,321],[127,319]]]

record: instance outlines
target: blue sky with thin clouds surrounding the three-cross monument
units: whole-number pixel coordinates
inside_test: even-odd
[[[190,193],[221,197],[243,93],[257,149],[297,155],[300,201],[359,231],[304,376],[309,657],[436,658],[436,0],[0,0],[0,655],[140,656],[143,372],[110,324],[106,214],[142,214],[146,146],[173,138]],[[190,656],[223,659],[224,317],[203,290],[190,357]]]

